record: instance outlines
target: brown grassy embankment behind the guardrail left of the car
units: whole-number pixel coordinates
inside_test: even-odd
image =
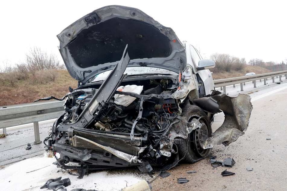
[[[54,70],[55,79],[47,77],[49,72],[37,71],[35,76],[30,74],[26,80],[16,80],[13,86],[10,83],[1,83],[0,106],[29,103],[50,95],[61,98],[69,92],[69,86],[77,87],[77,80],[67,70]]]

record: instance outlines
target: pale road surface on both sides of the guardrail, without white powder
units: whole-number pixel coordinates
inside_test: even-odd
[[[252,83],[249,86],[247,84],[244,87],[244,92],[251,92]],[[231,95],[237,91],[231,86],[227,88],[227,92]],[[152,190],[286,190],[287,83],[262,85],[252,92],[254,93],[249,95],[252,98],[253,110],[245,135],[230,146],[216,145],[211,153],[220,161],[233,158],[236,164],[232,168],[220,166],[212,169],[208,158],[194,164],[179,164],[168,171],[170,176],[164,179],[159,177],[152,182]],[[223,121],[223,114],[215,116],[213,132]],[[51,125],[52,123],[40,126],[41,140],[48,135]],[[33,127],[9,130],[8,133],[6,138],[0,139],[0,166],[43,153],[43,143],[32,145],[32,149],[25,150],[27,142],[34,141]],[[247,167],[254,170],[247,171]],[[235,174],[222,177],[221,172],[225,169]],[[186,171],[196,173],[187,174]],[[147,178],[148,175],[143,177],[151,180]],[[177,184],[177,178],[190,181]]]

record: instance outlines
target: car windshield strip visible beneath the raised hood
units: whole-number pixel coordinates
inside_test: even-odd
[[[92,82],[97,82],[97,81],[102,81],[105,80],[106,77],[110,74],[112,70],[105,71],[103,73],[100,73],[89,80],[90,83]],[[155,68],[155,67],[127,67],[124,74],[129,75],[137,75],[137,74],[170,74],[170,75],[177,75],[177,73],[166,70],[166,69],[161,69],[161,68]]]

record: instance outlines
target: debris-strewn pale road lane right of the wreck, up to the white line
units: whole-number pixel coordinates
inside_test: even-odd
[[[286,190],[286,95],[287,89],[252,102],[253,111],[245,135],[230,146],[213,148],[211,154],[217,156],[217,160],[234,159],[236,164],[232,168],[213,169],[209,158],[194,164],[180,164],[168,171],[170,176],[152,182],[152,190]],[[223,114],[215,117],[213,131],[223,120]],[[247,167],[254,170],[247,171]],[[221,172],[225,169],[235,174],[223,177]],[[190,181],[177,184],[177,178]]]

